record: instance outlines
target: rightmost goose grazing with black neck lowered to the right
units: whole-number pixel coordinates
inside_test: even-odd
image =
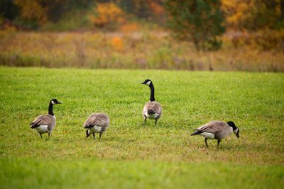
[[[219,147],[221,139],[229,136],[231,132],[234,132],[236,137],[239,138],[239,129],[236,127],[234,122],[212,121],[198,127],[196,131],[191,134],[191,136],[199,134],[204,137],[206,147],[208,147],[207,139],[217,139],[217,147]]]

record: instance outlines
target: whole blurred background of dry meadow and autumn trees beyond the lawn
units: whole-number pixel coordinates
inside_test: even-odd
[[[1,0],[0,64],[284,71],[283,0]]]

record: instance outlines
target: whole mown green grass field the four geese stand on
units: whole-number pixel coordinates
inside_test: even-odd
[[[143,127],[151,79],[163,117]],[[0,188],[282,188],[284,74],[0,67]],[[29,123],[48,112],[48,140]],[[111,119],[86,138],[90,113]],[[190,137],[209,120],[240,130],[222,140]]]

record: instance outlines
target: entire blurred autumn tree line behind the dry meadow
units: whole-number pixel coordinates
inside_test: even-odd
[[[167,26],[197,50],[217,50],[225,30],[283,29],[284,0],[0,0],[2,29],[116,30],[131,20]]]

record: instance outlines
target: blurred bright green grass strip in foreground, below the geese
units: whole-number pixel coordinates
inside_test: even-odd
[[[5,170],[0,171],[2,188],[280,188],[284,184],[280,166],[96,159],[64,164],[10,159],[0,165]]]

